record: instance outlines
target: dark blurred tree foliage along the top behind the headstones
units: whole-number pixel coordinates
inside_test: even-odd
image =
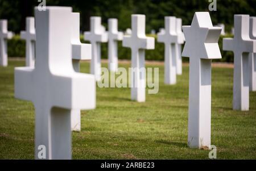
[[[9,30],[19,33],[25,28],[26,16],[34,15],[38,0],[0,0],[0,18],[8,19]],[[118,18],[118,28],[131,27],[131,14],[146,15],[146,32],[164,27],[164,16],[183,19],[191,24],[196,11],[209,11],[209,0],[46,0],[47,6],[72,6],[80,12],[81,31],[89,30],[90,16],[101,16],[106,26],[108,18]],[[234,14],[256,16],[256,0],[217,0],[217,11],[210,11],[213,24],[233,27]]]

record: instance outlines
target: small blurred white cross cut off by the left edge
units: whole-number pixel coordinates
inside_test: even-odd
[[[11,39],[13,33],[7,30],[7,20],[0,20],[0,66],[8,65],[7,39]]]

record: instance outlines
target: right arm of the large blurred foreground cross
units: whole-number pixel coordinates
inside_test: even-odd
[[[90,74],[71,73],[63,76],[56,74],[51,82],[52,93],[54,93],[51,99],[52,104],[65,109],[94,109],[96,107],[93,93],[96,91],[95,84],[95,78]],[[67,89],[71,91],[63,93]]]

